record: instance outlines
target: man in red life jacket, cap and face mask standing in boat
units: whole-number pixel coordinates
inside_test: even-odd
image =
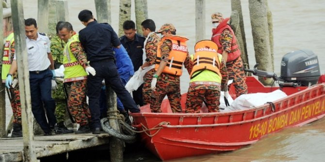
[[[226,61],[228,79],[233,80],[237,97],[246,94],[248,91],[241,51],[233,30],[227,24],[229,18],[224,19],[221,13],[214,13],[211,19],[211,40],[218,45],[218,53],[222,54]]]

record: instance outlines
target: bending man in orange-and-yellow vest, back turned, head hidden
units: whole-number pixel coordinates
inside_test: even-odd
[[[187,92],[185,113],[199,113],[205,102],[208,112],[219,112],[220,90],[227,90],[227,68],[218,46],[210,40],[195,44],[195,54],[191,56],[193,69]]]

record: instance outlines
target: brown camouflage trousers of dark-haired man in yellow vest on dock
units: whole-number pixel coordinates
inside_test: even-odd
[[[87,80],[78,80],[65,83],[68,92],[68,108],[76,123],[88,124],[91,120],[90,110],[86,101]]]

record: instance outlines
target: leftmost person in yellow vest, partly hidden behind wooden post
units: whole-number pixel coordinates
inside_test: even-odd
[[[4,40],[3,46],[3,58],[2,58],[2,69],[1,69],[1,79],[2,83],[5,83],[7,79],[7,74],[11,66],[11,62],[14,59],[15,55],[15,38],[14,33],[10,33],[7,38]],[[18,79],[17,73],[14,73],[13,77],[8,75],[10,78]],[[20,104],[20,93],[19,86],[16,83],[15,86],[6,88],[8,92],[8,97],[10,99],[11,108],[13,110],[13,132],[11,137],[22,137],[22,127],[21,127],[21,104]]]

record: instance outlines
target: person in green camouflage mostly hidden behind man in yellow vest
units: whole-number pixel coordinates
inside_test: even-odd
[[[65,42],[60,39],[59,26],[64,23],[59,21],[56,24],[56,35],[51,38],[51,52],[54,62],[54,68],[58,69],[63,63],[63,49],[65,48]],[[57,120],[57,128],[55,134],[61,133],[73,133],[72,130],[68,130],[65,127],[65,113],[66,113],[66,99],[65,92],[63,90],[63,83],[57,82],[57,87],[52,89],[52,96],[55,100],[55,117]]]

